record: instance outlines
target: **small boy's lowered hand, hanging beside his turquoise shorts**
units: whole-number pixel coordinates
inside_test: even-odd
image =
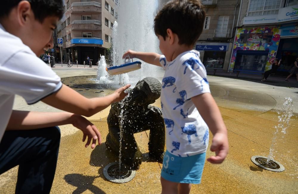
[[[212,164],[221,164],[229,152],[227,134],[216,133],[212,139],[210,150],[215,152],[216,156],[211,156],[207,159],[207,161],[211,162]]]

